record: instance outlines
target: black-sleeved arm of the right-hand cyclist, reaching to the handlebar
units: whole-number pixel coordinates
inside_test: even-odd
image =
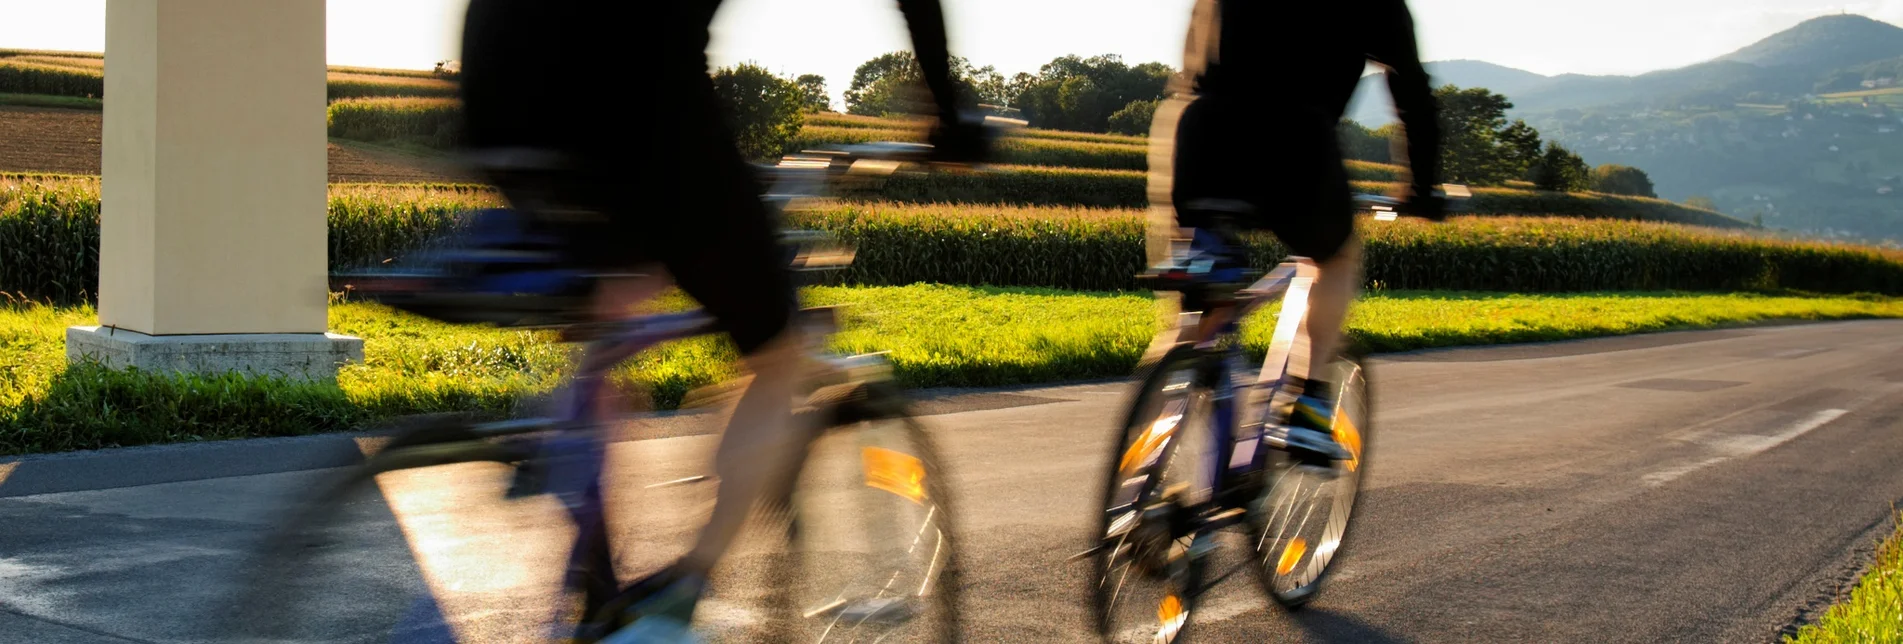
[[[1441,185],[1441,109],[1414,42],[1414,13],[1404,0],[1374,4],[1368,57],[1387,67],[1387,91],[1408,135],[1408,173],[1416,194],[1431,194]]]

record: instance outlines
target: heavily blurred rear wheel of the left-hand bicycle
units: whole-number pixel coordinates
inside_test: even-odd
[[[556,606],[546,598],[559,589],[558,575],[523,581],[508,572],[563,570],[559,558],[523,554],[537,551],[523,541],[565,545],[571,535],[556,532],[571,526],[548,532],[546,513],[516,507],[529,501],[474,511],[480,503],[466,503],[500,499],[510,465],[523,457],[525,446],[478,438],[462,421],[426,419],[362,465],[314,480],[242,562],[230,600],[207,625],[221,642],[455,642],[489,638],[481,633],[548,633]],[[497,488],[468,486],[472,474],[493,474]],[[497,558],[502,553],[506,560]],[[573,604],[579,617],[582,600]]]

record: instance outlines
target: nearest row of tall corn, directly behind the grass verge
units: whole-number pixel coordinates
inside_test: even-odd
[[[97,177],[0,177],[0,292],[55,301],[95,293],[97,187]],[[461,213],[497,204],[474,185],[333,185],[331,269],[400,259],[453,232]],[[858,248],[843,284],[1132,290],[1144,267],[1142,210],[828,202],[790,213],[790,225],[834,231]],[[1903,293],[1903,253],[1743,231],[1570,217],[1364,217],[1361,231],[1364,276],[1385,288]],[[1269,267],[1286,250],[1258,234],[1252,253]]]

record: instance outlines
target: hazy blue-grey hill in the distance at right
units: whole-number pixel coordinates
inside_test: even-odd
[[[1435,86],[1488,88],[1589,164],[1646,170],[1659,196],[1709,196],[1768,227],[1903,240],[1903,27],[1802,21],[1705,63],[1638,76],[1540,76],[1429,63]],[[1349,118],[1393,122],[1382,76]]]

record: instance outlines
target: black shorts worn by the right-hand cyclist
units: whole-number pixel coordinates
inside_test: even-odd
[[[1340,253],[1355,232],[1340,141],[1319,118],[1203,95],[1184,107],[1172,154],[1170,206],[1180,227],[1207,229],[1229,215],[1315,261]]]

